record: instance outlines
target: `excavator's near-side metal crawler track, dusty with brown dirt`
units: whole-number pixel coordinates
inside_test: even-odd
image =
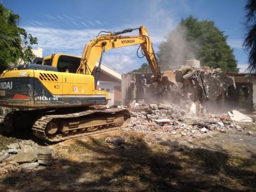
[[[124,119],[122,120],[121,124],[120,122],[115,122],[113,118],[106,118],[104,123],[101,124],[90,124],[90,126],[82,126],[79,127],[78,129],[74,129],[71,131],[67,131],[68,133],[61,133],[59,132],[58,134],[55,135],[48,135],[47,134],[47,126],[50,122],[58,119],[59,121],[68,121],[69,119],[74,119],[74,118],[88,118],[90,115],[94,114],[116,114],[116,113],[122,113]],[[92,118],[93,119],[93,118]],[[109,132],[113,130],[118,130],[119,127],[113,127],[116,125],[122,125],[123,122],[127,122],[130,120],[130,113],[127,110],[121,110],[121,109],[106,109],[106,110],[87,110],[87,111],[82,111],[82,112],[77,112],[77,113],[69,113],[69,114],[43,114],[39,115],[35,118],[34,123],[32,125],[32,132],[33,134],[38,137],[39,139],[43,139],[49,142],[60,142],[68,139],[73,139],[73,138],[78,138],[78,137],[86,137],[86,136],[92,136],[95,134],[99,133],[104,133],[104,132]],[[93,131],[88,131],[88,128],[93,129]]]

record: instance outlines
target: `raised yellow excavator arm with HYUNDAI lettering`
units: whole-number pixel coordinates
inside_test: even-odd
[[[137,29],[139,29],[138,36],[121,35],[123,33],[132,32],[133,30]],[[92,74],[92,71],[99,58],[101,63],[103,52],[108,51],[109,49],[116,49],[134,45],[141,46],[156,80],[160,81],[161,75],[153,50],[153,44],[147,33],[147,30],[143,26],[136,29],[126,29],[123,31],[108,33],[105,35],[98,35],[97,37],[93,38],[84,47],[80,66],[77,69],[77,73],[90,75]],[[97,77],[95,80],[97,81]]]

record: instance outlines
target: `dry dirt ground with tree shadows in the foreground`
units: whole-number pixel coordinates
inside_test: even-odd
[[[256,129],[246,128],[193,140],[127,130],[71,139],[50,145],[53,166],[2,177],[0,189],[256,191]],[[106,145],[110,136],[124,137],[124,147]]]

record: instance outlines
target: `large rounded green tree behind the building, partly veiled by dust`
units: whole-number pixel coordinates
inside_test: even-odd
[[[182,19],[177,29],[169,33],[159,46],[158,58],[164,70],[197,59],[201,66],[238,72],[237,60],[224,32],[213,21],[199,21],[193,16]]]

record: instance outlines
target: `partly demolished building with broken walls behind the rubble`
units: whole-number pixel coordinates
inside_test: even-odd
[[[233,109],[246,113],[253,111],[253,74],[189,66],[172,72],[163,72],[161,82],[156,82],[151,72],[122,75],[122,104],[134,100],[180,104],[190,100],[200,102],[212,113]]]

